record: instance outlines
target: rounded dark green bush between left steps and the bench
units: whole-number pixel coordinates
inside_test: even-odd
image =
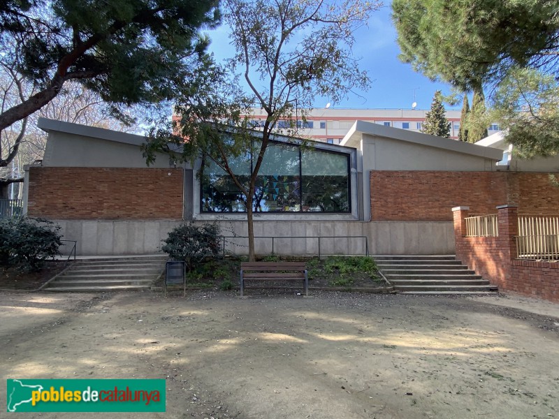
[[[222,251],[222,242],[216,223],[195,226],[184,223],[170,231],[161,247],[170,258],[184,260],[189,270],[208,258],[217,258]]]

